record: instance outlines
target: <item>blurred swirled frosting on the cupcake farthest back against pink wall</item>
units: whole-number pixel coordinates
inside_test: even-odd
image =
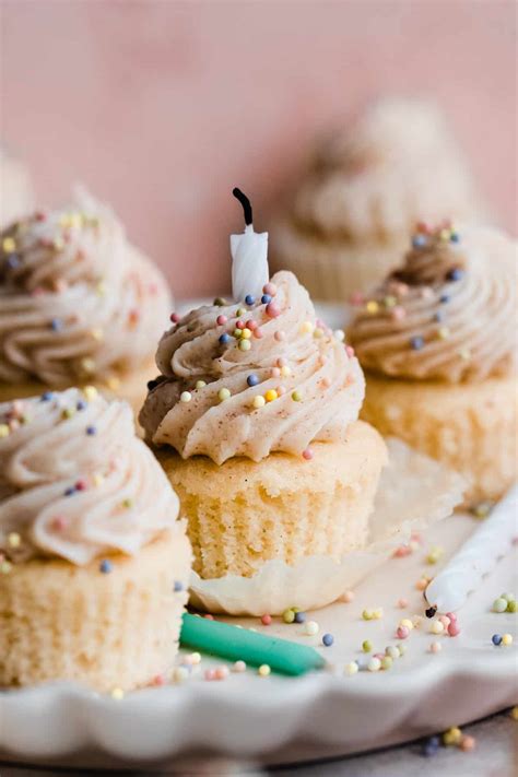
[[[326,139],[292,202],[283,232],[325,238],[337,248],[343,240],[392,240],[426,214],[471,219],[480,208],[438,108],[396,98],[374,104]]]

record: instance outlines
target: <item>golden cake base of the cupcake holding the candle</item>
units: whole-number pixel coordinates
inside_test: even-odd
[[[314,458],[271,454],[217,466],[203,456],[157,457],[180,498],[180,515],[203,578],[252,576],[264,562],[340,558],[367,538],[368,516],[387,460],[379,434],[361,421],[343,443],[313,443]]]

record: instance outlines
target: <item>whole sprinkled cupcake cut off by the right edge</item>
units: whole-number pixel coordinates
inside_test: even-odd
[[[419,227],[404,263],[349,337],[366,370],[362,417],[470,482],[468,504],[516,479],[516,243]]]

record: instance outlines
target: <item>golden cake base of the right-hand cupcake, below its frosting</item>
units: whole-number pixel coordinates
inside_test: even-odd
[[[466,505],[498,499],[517,476],[518,384],[398,380],[366,373],[361,416],[463,474]]]

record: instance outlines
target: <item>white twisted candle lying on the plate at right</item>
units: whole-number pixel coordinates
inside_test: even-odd
[[[517,509],[515,485],[426,588],[426,601],[432,608],[455,612],[462,607],[482,577],[509,551],[518,534]]]

